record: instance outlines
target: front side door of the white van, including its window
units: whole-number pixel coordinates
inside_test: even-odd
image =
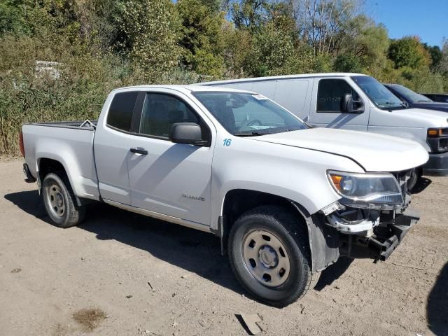
[[[342,128],[346,130],[367,131],[370,106],[358,87],[346,78],[316,78],[314,80],[311,111],[307,122],[316,127]],[[346,112],[342,108],[344,94],[351,94],[353,108],[362,112]]]

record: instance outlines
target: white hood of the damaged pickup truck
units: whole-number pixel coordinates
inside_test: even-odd
[[[251,137],[256,141],[342,155],[366,172],[400,172],[428,161],[428,152],[415,141],[367,132],[311,128]]]

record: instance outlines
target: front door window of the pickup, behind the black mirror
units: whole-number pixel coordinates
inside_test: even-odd
[[[169,94],[146,94],[140,134],[168,139],[174,123],[201,124],[200,118],[180,99]]]

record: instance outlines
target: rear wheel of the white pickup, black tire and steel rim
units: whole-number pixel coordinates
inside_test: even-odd
[[[43,178],[42,198],[51,221],[59,228],[70,228],[83,221],[85,207],[76,204],[69,179],[64,175],[61,178],[50,173]]]

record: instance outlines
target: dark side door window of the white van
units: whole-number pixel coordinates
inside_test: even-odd
[[[341,100],[344,94],[351,94],[353,100],[359,96],[343,79],[321,79],[317,90],[317,113],[342,113]]]

